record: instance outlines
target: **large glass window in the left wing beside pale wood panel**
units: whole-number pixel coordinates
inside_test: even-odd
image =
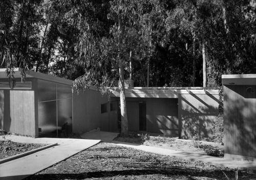
[[[71,86],[37,82],[39,137],[67,137],[73,125]]]

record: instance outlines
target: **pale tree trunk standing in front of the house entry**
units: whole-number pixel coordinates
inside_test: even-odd
[[[121,31],[118,37],[118,61],[119,61],[119,90],[120,90],[120,110],[121,110],[121,137],[128,137],[128,120],[127,120],[127,111],[126,111],[126,100],[125,100],[125,89],[124,89],[124,69],[123,69],[123,59],[120,56],[121,53],[121,43],[122,43],[122,23],[121,18],[118,19],[118,30]]]

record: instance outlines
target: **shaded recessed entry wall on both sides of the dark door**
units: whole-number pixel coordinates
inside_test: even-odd
[[[176,98],[126,98],[129,131],[140,130],[140,102],[146,105],[147,132],[178,136],[178,99]]]

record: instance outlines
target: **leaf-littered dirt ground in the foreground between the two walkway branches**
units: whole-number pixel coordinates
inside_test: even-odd
[[[99,143],[30,179],[235,179],[235,169]],[[255,174],[239,170],[239,179]]]

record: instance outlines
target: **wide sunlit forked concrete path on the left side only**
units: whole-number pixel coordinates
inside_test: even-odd
[[[22,143],[58,143],[58,145],[24,156],[23,158],[0,164],[1,180],[19,180],[26,178],[100,142],[99,140],[34,139],[19,136],[6,136],[6,139]]]

